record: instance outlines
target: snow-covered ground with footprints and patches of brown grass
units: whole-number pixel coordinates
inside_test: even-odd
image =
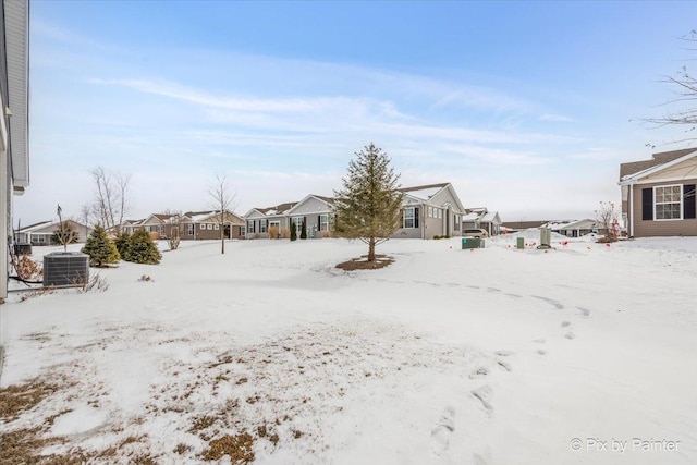
[[[389,241],[353,272],[359,242],[185,243],[91,269],[106,292],[13,293],[0,388],[60,389],[0,433],[95,463],[244,432],[255,464],[697,463],[697,238],[518,236]]]

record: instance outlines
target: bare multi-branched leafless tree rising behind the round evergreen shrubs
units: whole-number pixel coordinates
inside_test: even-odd
[[[97,191],[97,198],[91,206],[97,222],[108,231],[121,233],[123,217],[129,208],[131,174],[107,171],[102,167],[97,167],[89,173]]]

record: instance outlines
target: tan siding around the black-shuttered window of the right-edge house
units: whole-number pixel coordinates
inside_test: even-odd
[[[651,184],[636,184],[634,185],[633,200],[634,209],[631,212],[631,217],[634,218],[634,237],[650,237],[650,236],[675,236],[675,235],[697,235],[697,219],[688,218],[682,220],[645,220],[644,219],[644,189],[652,189],[656,186],[695,184],[695,181],[671,181],[660,182]],[[684,201],[684,200],[683,200]],[[628,207],[627,207],[628,208]],[[684,208],[684,206],[683,206]],[[632,218],[629,219],[632,221]]]

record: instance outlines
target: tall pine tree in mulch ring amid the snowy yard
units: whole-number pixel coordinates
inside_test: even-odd
[[[390,167],[387,154],[372,143],[355,156],[347,178],[341,180],[343,188],[334,191],[334,231],[340,237],[368,244],[368,261],[375,261],[376,245],[401,225],[400,175]]]

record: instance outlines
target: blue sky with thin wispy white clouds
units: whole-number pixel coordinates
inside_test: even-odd
[[[331,195],[382,147],[504,222],[592,217],[619,164],[684,148],[659,83],[695,2],[33,1],[32,186],[15,223],[77,215],[131,173],[130,218]],[[651,150],[647,143],[655,144]],[[16,225],[16,224],[15,224]]]

